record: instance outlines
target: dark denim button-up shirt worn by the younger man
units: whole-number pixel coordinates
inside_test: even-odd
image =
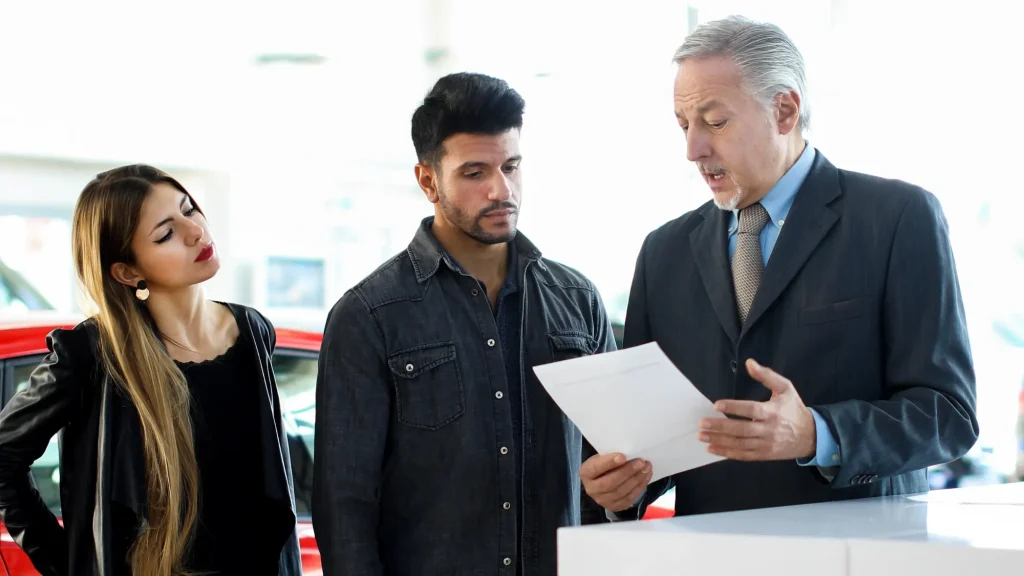
[[[587,278],[516,236],[517,435],[502,323],[432,223],[328,317],[312,505],[325,574],[553,576],[556,530],[606,519],[579,478],[593,451],[532,367],[614,349],[611,327]]]

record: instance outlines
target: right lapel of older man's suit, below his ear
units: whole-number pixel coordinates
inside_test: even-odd
[[[771,307],[828,231],[836,225],[839,215],[828,207],[828,204],[838,198],[841,192],[839,171],[820,152],[817,153],[814,167],[804,180],[804,184],[800,187],[782,232],[775,242],[775,248],[768,259],[768,265],[754,296],[740,336],[757,324]]]

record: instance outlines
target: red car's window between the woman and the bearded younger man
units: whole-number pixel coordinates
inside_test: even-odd
[[[292,454],[295,506],[308,518],[313,491],[313,425],[316,423],[316,356],[278,349],[273,372]]]

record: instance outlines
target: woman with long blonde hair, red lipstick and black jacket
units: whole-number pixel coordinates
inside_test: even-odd
[[[95,317],[0,412],[0,516],[45,575],[301,574],[274,331],[204,297],[209,224],[148,166],[104,172],[75,208]],[[63,430],[63,527],[29,466]]]

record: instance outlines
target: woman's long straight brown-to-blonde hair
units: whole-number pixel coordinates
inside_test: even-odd
[[[75,268],[98,308],[102,363],[131,399],[142,428],[148,515],[130,552],[136,576],[184,574],[199,508],[187,383],[135,288],[111,272],[115,263],[135,263],[132,237],[143,202],[160,182],[188,194],[150,166],[103,172],[82,191],[72,224]]]

